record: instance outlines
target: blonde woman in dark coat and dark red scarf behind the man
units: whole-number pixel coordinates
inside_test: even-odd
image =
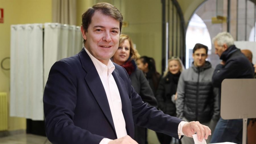
[[[157,101],[153,91],[143,72],[137,68],[135,63],[139,57],[140,55],[133,47],[131,38],[121,34],[119,38],[119,47],[112,57],[112,61],[124,67],[131,79],[133,88],[141,96],[141,99],[147,104],[157,107]],[[134,140],[139,144],[147,144],[147,128],[135,125],[134,130]]]

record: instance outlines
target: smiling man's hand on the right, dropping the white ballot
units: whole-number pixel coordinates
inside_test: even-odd
[[[208,139],[209,135],[212,135],[211,130],[208,126],[205,126],[203,124],[200,124],[198,121],[193,121],[193,122],[189,122],[183,125],[182,127],[182,132],[184,133],[185,136],[187,137],[191,137],[192,135],[197,134],[197,139],[199,141],[202,141],[203,138],[205,138],[205,140]]]

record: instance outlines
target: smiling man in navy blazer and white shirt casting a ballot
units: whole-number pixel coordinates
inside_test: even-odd
[[[52,66],[44,89],[45,129],[54,144],[137,144],[134,124],[180,139],[211,134],[148,106],[134,91],[125,69],[110,61],[118,48],[123,16],[98,3],[82,16],[84,48]]]

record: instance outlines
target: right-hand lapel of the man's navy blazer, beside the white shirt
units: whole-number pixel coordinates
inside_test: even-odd
[[[116,85],[118,87],[121,101],[122,101],[122,112],[125,120],[126,132],[132,138],[134,137],[134,124],[132,118],[132,106],[130,101],[130,94],[127,94],[127,90],[124,84],[124,80],[118,75],[118,71],[115,69],[112,73]]]

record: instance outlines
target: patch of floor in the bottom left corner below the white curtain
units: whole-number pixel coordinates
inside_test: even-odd
[[[44,136],[33,134],[17,134],[0,138],[1,144],[51,144]]]

